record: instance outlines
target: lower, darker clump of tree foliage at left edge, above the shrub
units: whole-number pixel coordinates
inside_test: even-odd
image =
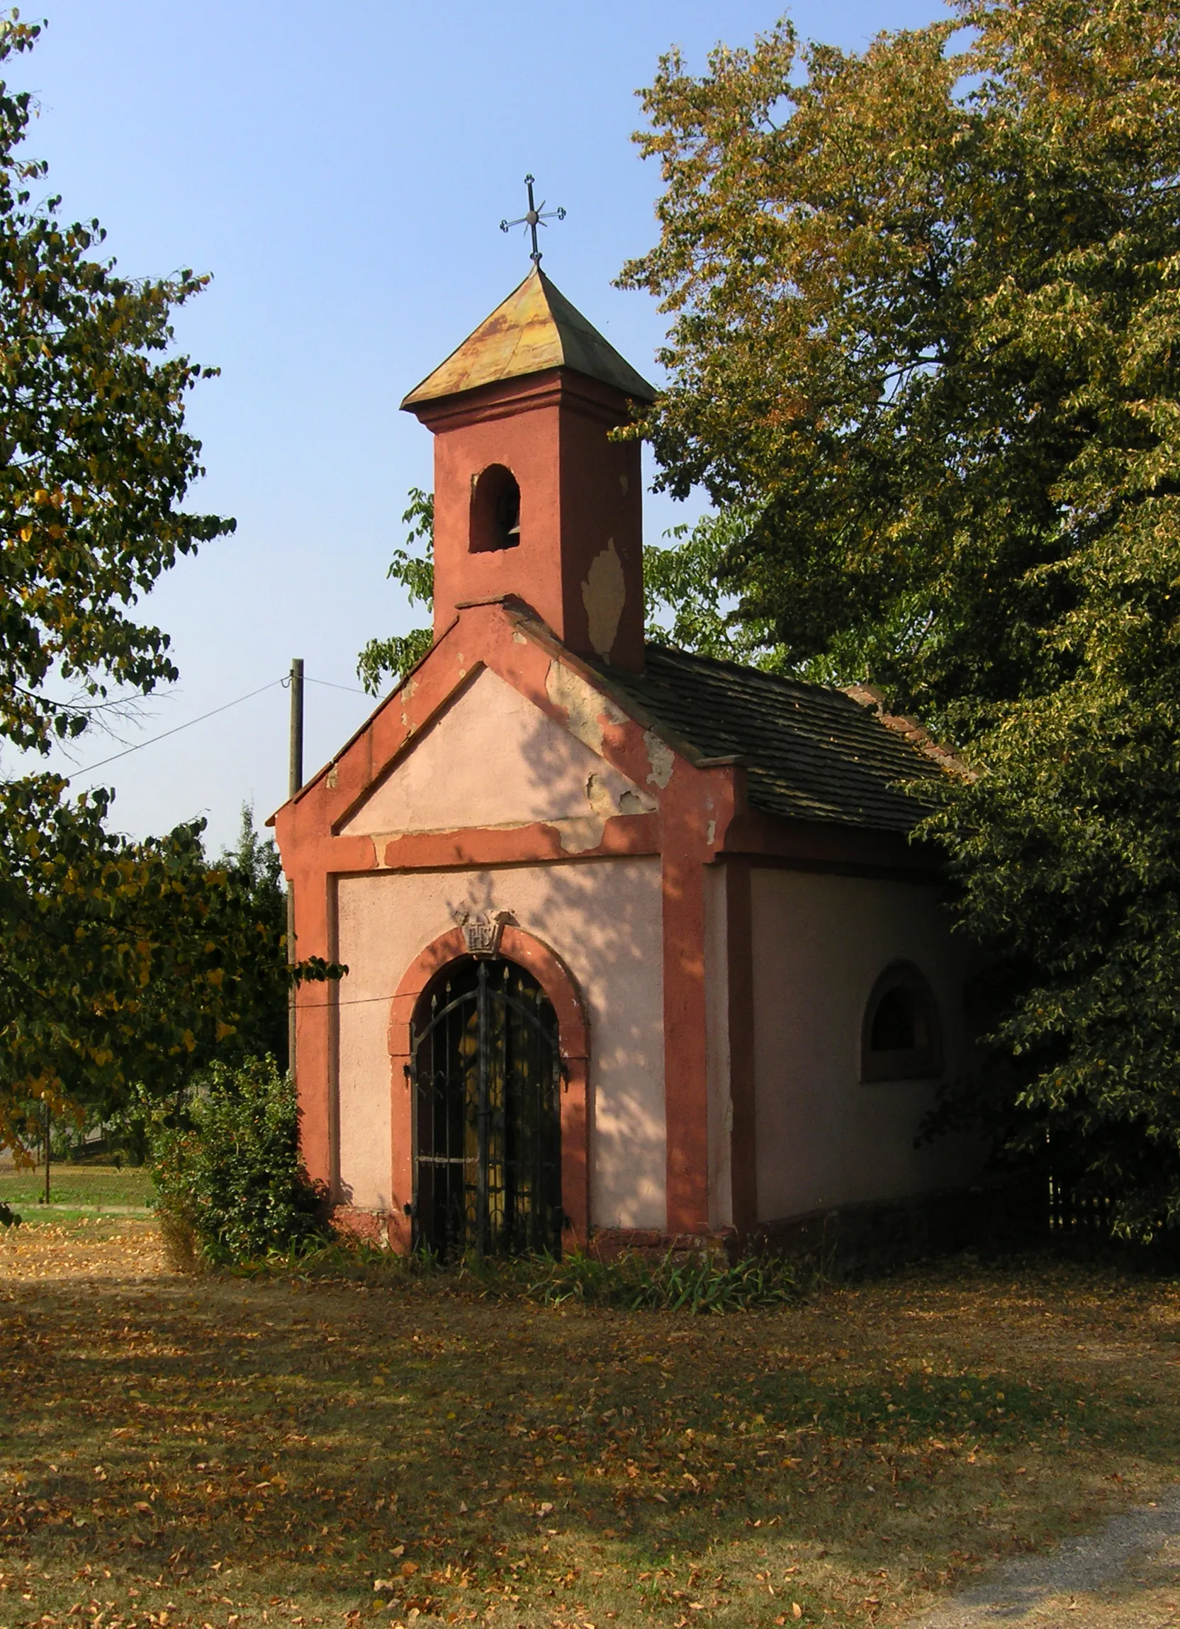
[[[107,811],[52,775],[0,785],[3,1142],[26,1140],[41,1103],[68,1117],[173,1096],[267,1030],[273,912],[208,865],[203,823],[127,842]]]

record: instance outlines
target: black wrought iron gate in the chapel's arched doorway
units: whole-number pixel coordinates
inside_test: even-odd
[[[443,1256],[562,1248],[557,1013],[501,956],[464,959],[413,1016],[413,1236]]]

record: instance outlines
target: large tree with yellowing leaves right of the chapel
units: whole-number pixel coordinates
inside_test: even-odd
[[[993,953],[981,1109],[1138,1235],[1180,1222],[1177,47],[1162,0],[959,0],[671,54],[623,272],[674,316],[662,484],[754,516],[742,619],[973,769],[928,832]]]

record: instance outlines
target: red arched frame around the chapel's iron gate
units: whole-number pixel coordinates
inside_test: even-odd
[[[441,933],[418,951],[397,986],[389,1013],[391,1060],[391,1163],[392,1209],[389,1240],[410,1248],[409,1204],[413,1194],[413,1093],[410,1090],[410,1036],[422,992],[448,963],[467,956],[462,929]],[[589,1026],[573,974],[542,940],[505,924],[500,955],[524,968],[548,997],[557,1013],[558,1044],[565,1065],[562,1090],[562,1209],[563,1243],[584,1248],[589,1233]]]

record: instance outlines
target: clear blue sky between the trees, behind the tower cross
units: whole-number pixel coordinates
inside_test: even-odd
[[[33,90],[29,153],[72,218],[98,215],[124,272],[212,272],[177,323],[216,363],[189,414],[207,479],[192,505],[238,518],[184,560],[140,614],[174,642],[181,679],[119,740],[88,736],[83,769],[277,681],[303,656],[308,769],[373,705],[355,661],[412,626],[386,582],[410,485],[430,487],[430,435],[397,411],[519,282],[526,171],[568,217],[545,270],[640,371],[658,378],[654,303],[610,287],[654,239],[659,178],[630,142],[636,86],[669,46],[701,70],[718,41],[749,44],[768,0],[50,0],[13,85]],[[26,20],[39,8],[24,5]],[[937,0],[807,0],[804,37],[863,47],[944,15]],[[649,497],[648,538],[692,507]],[[332,689],[329,686],[342,686]],[[20,759],[8,751],[0,769]],[[94,772],[133,834],[208,818],[229,841],[286,788],[286,692]]]

